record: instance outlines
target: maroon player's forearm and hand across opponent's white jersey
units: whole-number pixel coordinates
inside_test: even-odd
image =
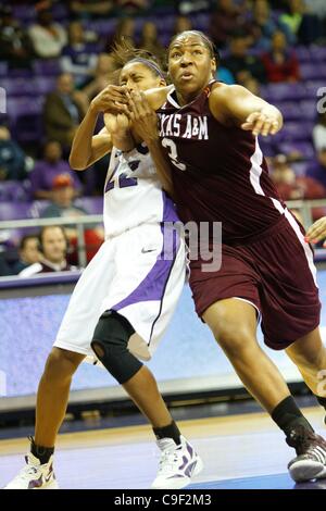
[[[162,104],[162,99],[164,101],[164,95],[156,95],[154,92],[153,96],[148,97],[146,92],[127,92],[133,133],[135,134],[135,139],[143,140],[149,148],[162,187],[173,197],[171,167],[162,150],[158,115],[151,107],[152,104],[156,109],[160,108],[159,103],[161,102]]]

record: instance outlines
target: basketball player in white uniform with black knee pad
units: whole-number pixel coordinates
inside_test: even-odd
[[[92,100],[70,157],[71,165],[82,171],[111,152],[104,187],[105,241],[72,295],[39,384],[30,452],[8,489],[58,487],[55,438],[72,376],[86,357],[108,369],[151,423],[162,451],[152,488],[183,488],[202,469],[155,379],[139,361],[151,358],[175,310],[185,283],[185,246],[165,225],[177,221],[174,204],[161,188],[147,147],[135,147],[123,114],[124,92],[163,87],[164,76],[139,52],[120,47],[115,58],[125,63],[120,74],[124,86],[109,86]],[[113,132],[103,128],[93,135],[104,111]],[[110,119],[110,112],[115,116]],[[115,139],[124,152],[114,148]]]

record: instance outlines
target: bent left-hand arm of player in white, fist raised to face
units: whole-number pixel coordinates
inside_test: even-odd
[[[109,85],[91,101],[73,140],[70,164],[84,171],[112,150],[112,137],[106,128],[93,135],[100,113],[120,114],[126,111],[125,87]]]

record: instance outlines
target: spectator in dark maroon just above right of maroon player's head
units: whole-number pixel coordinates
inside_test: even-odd
[[[223,48],[228,38],[241,28],[241,8],[234,0],[220,0],[210,21],[210,35],[217,48]]]

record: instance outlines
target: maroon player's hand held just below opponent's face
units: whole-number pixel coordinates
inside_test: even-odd
[[[128,91],[129,117],[133,122],[133,130],[140,140],[149,144],[159,139],[158,115],[150,107],[143,92]]]

